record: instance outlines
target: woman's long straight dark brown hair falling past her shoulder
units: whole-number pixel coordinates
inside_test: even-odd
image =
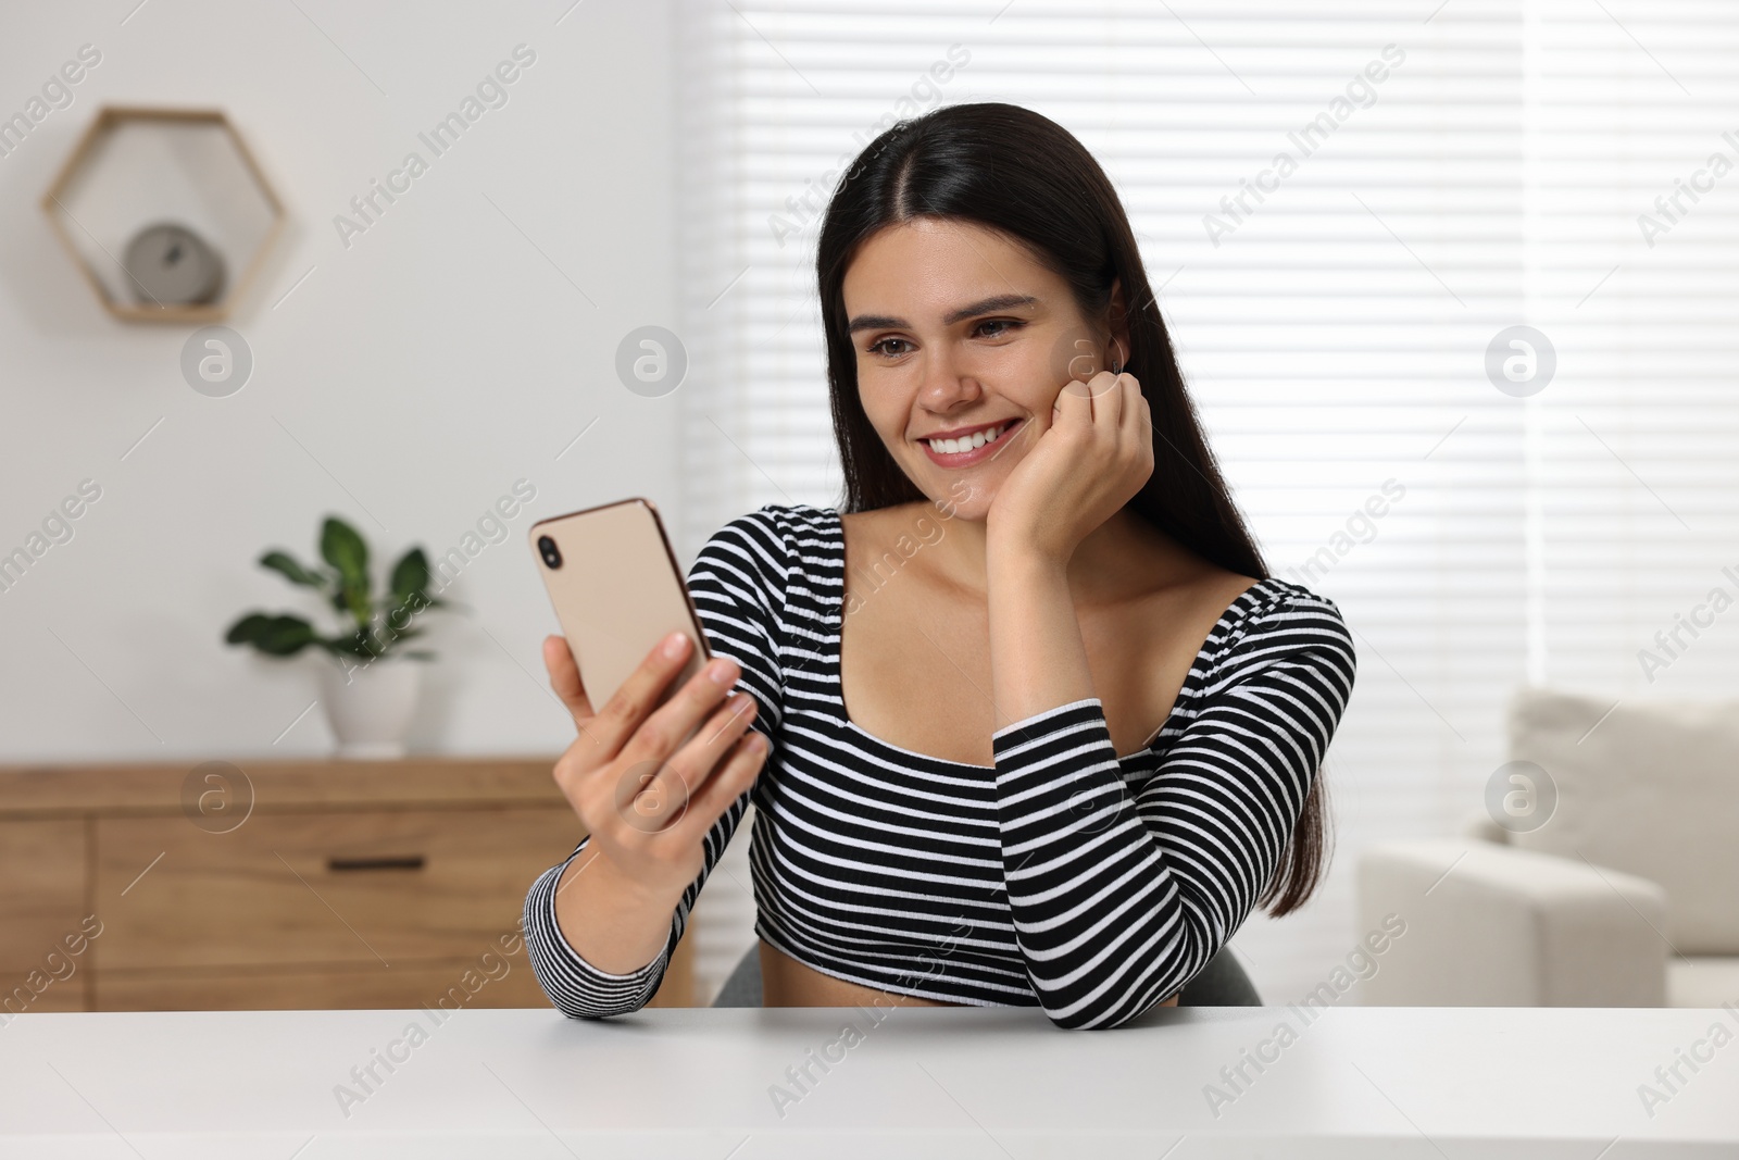
[[[1000,231],[1069,285],[1092,323],[1127,304],[1125,370],[1153,414],[1153,477],[1129,508],[1205,560],[1240,576],[1268,565],[1202,437],[1136,235],[1109,177],[1054,120],[1017,104],[976,103],[903,120],[852,160],[835,186],[817,240],[816,277],[828,343],[833,437],[845,475],[842,511],[929,499],[887,450],[857,395],[857,355],[845,318],[845,271],[876,231],[915,217],[960,219]],[[1304,904],[1327,863],[1327,791],[1311,781],[1282,866],[1257,904],[1273,917]]]

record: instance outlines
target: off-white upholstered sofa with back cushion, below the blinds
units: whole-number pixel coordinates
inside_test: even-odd
[[[1482,812],[1461,838],[1358,864],[1360,929],[1407,932],[1360,1002],[1718,1007],[1739,1002],[1739,703],[1525,689],[1509,755],[1546,772],[1546,824]]]

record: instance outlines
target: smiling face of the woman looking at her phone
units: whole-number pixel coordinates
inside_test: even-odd
[[[882,230],[842,294],[864,414],[906,477],[969,520],[1050,426],[1063,384],[1104,365],[1104,330],[1063,277],[974,223]]]

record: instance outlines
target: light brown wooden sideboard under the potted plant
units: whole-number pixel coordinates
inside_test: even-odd
[[[548,1007],[520,915],[583,835],[553,763],[0,767],[0,1023]],[[652,1005],[692,990],[683,939]]]

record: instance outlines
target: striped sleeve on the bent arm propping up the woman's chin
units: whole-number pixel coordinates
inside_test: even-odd
[[[1134,793],[1099,697],[991,736],[1016,941],[1052,1023],[1127,1023],[1236,932],[1280,863],[1353,671],[1334,603],[1294,590],[1221,643],[1195,720]]]

